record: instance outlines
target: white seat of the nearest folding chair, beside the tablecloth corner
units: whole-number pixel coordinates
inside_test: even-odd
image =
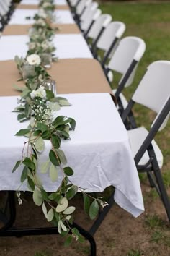
[[[143,140],[145,140],[147,135],[148,135],[148,131],[144,127],[139,127],[136,129],[128,130],[128,136],[130,139],[130,147],[133,152],[133,157],[135,157],[136,153],[138,152],[138,150],[140,148],[140,145],[142,145]],[[163,166],[163,155],[161,153],[160,148],[158,148],[158,145],[156,144],[155,140],[152,141],[152,145],[153,145],[153,149],[156,153],[158,166],[161,169],[161,167]],[[148,160],[149,160],[149,156],[148,156],[148,152],[146,152],[143,155],[143,157],[140,159],[140,162],[138,164],[144,165],[148,162]]]

